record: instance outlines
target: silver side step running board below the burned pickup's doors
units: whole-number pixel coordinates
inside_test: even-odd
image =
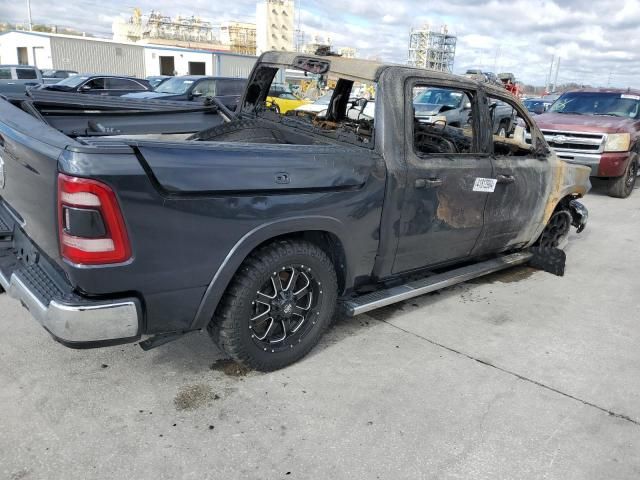
[[[439,273],[430,277],[415,280],[404,285],[378,290],[344,302],[346,314],[355,317],[376,308],[386,307],[393,303],[408,300],[413,297],[435,292],[458,283],[466,282],[474,278],[482,277],[493,272],[504,270],[527,263],[533,255],[529,252],[512,253],[480,263],[474,263],[466,267]]]

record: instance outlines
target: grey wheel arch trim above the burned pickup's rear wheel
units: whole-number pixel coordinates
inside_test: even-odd
[[[213,275],[191,325],[200,329],[211,321],[220,299],[236,272],[255,250],[284,239],[304,239],[317,244],[332,259],[338,276],[339,292],[353,284],[351,265],[347,261],[351,246],[342,222],[332,217],[296,217],[260,225],[245,234],[231,249]]]

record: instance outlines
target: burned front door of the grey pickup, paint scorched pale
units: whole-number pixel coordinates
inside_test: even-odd
[[[494,101],[515,110],[516,126],[504,137],[494,133],[487,145],[497,182],[489,195],[476,254],[516,248],[531,240],[543,220],[551,176],[546,157],[536,155],[525,141],[525,130],[531,127],[528,115],[512,99],[489,96],[489,102]]]

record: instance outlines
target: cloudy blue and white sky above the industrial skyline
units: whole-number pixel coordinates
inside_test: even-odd
[[[26,22],[25,0],[1,3],[0,21]],[[255,0],[31,0],[34,23],[105,37],[134,6],[213,23],[255,22],[256,10]],[[328,37],[363,58],[405,63],[412,27],[446,24],[458,37],[454,73],[513,72],[544,85],[555,56],[559,84],[640,87],[640,0],[300,0],[299,11],[308,39]]]

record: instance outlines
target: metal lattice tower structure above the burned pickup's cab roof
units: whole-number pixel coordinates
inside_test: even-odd
[[[456,42],[456,36],[449,34],[446,25],[439,32],[431,30],[428,25],[412,28],[407,63],[414,67],[451,72],[456,56]]]

